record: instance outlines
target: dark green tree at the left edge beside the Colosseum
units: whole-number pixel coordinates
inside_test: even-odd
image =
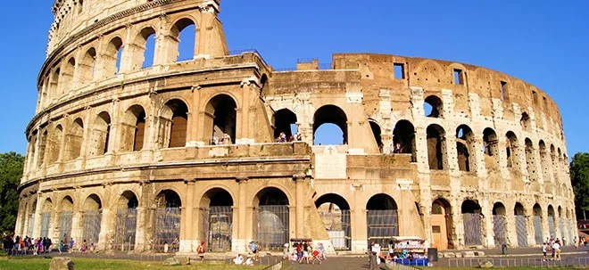
[[[24,156],[14,151],[0,154],[0,232],[14,231]]]

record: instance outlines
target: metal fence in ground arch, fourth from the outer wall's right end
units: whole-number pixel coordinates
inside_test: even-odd
[[[116,228],[114,232],[114,250],[135,250],[135,234],[137,231],[137,209],[117,210]]]

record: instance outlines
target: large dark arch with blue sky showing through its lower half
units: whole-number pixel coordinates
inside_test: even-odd
[[[345,114],[345,111],[336,105],[328,104],[321,106],[318,110],[315,110],[315,113],[313,114],[313,144],[322,144],[320,142],[325,140],[323,133],[321,130],[319,130],[319,128],[324,129],[325,127],[328,127],[321,127],[325,124],[339,127],[340,131],[342,132],[342,143],[338,144],[348,143],[348,117]],[[337,141],[339,140],[328,140],[328,144],[335,143]]]

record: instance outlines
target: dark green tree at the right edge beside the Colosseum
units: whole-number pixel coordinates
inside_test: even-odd
[[[578,152],[570,162],[570,181],[575,192],[577,217],[584,218],[583,211],[589,211],[589,153]]]

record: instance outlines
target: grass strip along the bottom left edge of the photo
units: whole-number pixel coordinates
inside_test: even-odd
[[[141,262],[118,259],[71,258],[76,270],[119,270],[119,269],[174,269],[174,270],[241,270],[262,269],[264,266],[235,266],[222,264],[195,264],[192,266],[162,266],[162,262]],[[8,258],[0,260],[2,270],[47,270],[48,258]]]

